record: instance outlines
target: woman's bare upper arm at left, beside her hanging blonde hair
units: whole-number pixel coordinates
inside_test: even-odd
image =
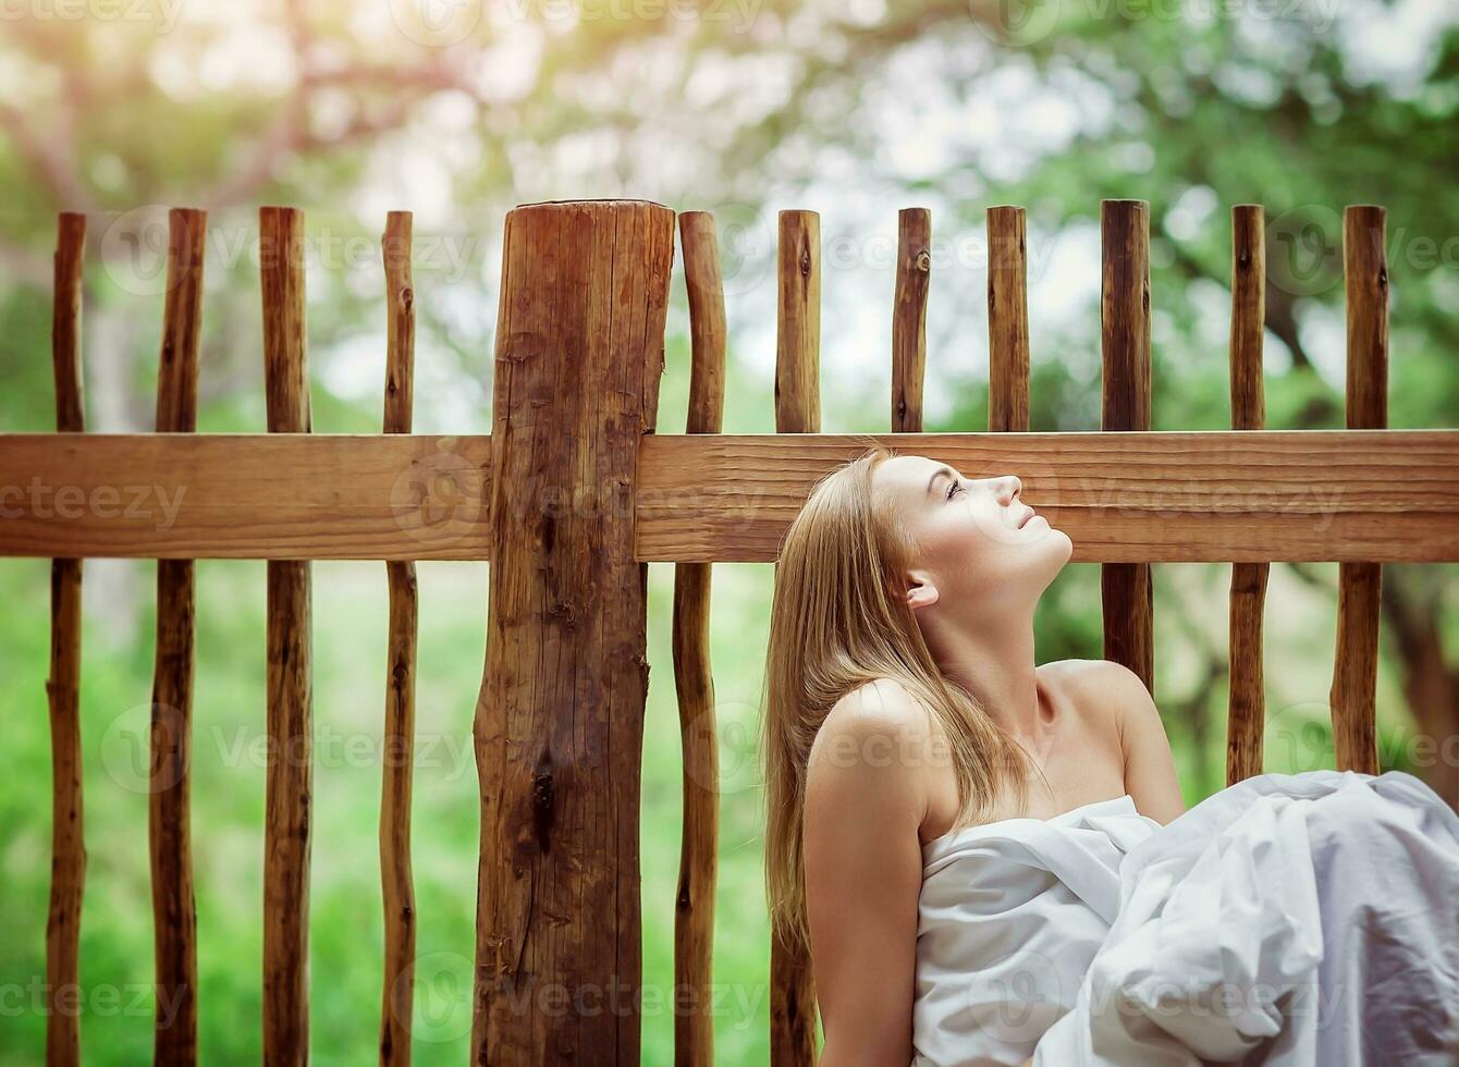
[[[804,861],[821,1067],[912,1061],[926,787],[906,741],[926,734],[922,714],[881,682],[843,698],[811,747]]]

